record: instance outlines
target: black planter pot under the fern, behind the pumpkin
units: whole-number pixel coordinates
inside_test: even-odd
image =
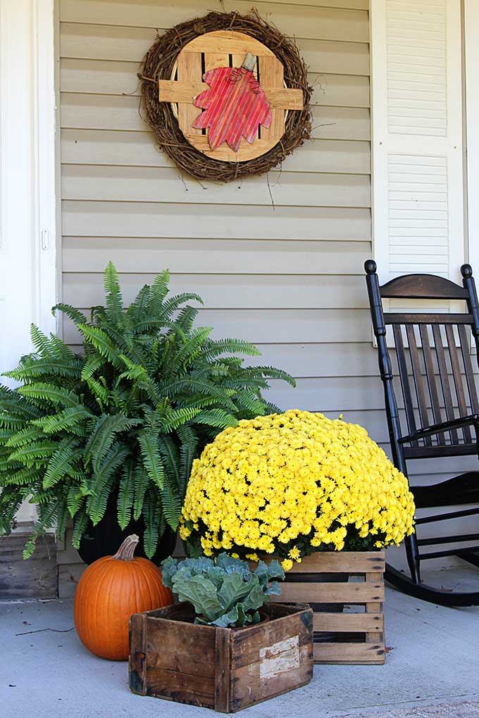
[[[88,526],[80,541],[80,548],[78,549],[80,558],[85,561],[85,564],[93,564],[93,561],[101,559],[103,556],[113,556],[113,554],[116,554],[122,541],[124,541],[126,536],[130,536],[131,533],[136,533],[140,538],[135,556],[147,557],[143,550],[143,534],[145,530],[143,517],[140,517],[138,521],[130,521],[129,525],[122,531],[118,525],[118,518],[116,518],[116,500],[117,495],[113,493],[108,500],[105,516],[103,516],[96,526],[93,526],[91,521],[88,522]],[[157,551],[150,560],[159,566],[164,559],[173,553],[176,540],[176,531],[167,528],[163,536],[159,539]]]

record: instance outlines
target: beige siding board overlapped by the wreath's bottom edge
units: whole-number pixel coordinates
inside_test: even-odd
[[[115,202],[187,202],[225,205],[297,205],[316,207],[371,207],[368,175],[302,174],[281,170],[268,177],[229,182],[220,189],[180,177],[174,168],[93,167],[74,165],[62,170],[64,200]]]

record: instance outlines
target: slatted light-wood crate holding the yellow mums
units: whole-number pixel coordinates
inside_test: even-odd
[[[384,551],[320,551],[287,572],[277,600],[311,605],[315,663],[384,663],[383,573]]]

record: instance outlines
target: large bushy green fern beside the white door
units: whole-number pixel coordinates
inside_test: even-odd
[[[11,530],[24,498],[39,520],[26,554],[73,520],[78,547],[88,522],[116,500],[118,524],[143,516],[148,556],[166,526],[176,530],[192,462],[205,444],[240,419],[268,414],[270,379],[281,370],[245,366],[259,351],[244,340],[213,340],[197,326],[193,292],[169,295],[163,271],[124,308],[116,269],[104,275],[104,306],[83,314],[58,304],[83,336],[75,354],[31,327],[34,352],[0,386],[0,531]],[[192,303],[193,304],[192,304]]]

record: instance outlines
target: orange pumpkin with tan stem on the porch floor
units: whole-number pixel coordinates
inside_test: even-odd
[[[138,536],[125,538],[114,556],[85,569],[75,592],[75,628],[88,651],[110,661],[128,658],[129,618],[173,603],[162,574],[148,559],[134,556]]]

